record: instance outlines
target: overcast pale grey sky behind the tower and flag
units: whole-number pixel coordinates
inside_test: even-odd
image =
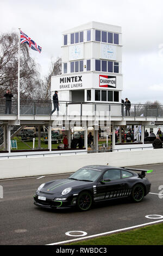
[[[61,57],[61,33],[90,21],[122,27],[123,99],[163,104],[162,0],[1,0],[0,31],[18,27],[42,47],[31,55],[46,74]]]

